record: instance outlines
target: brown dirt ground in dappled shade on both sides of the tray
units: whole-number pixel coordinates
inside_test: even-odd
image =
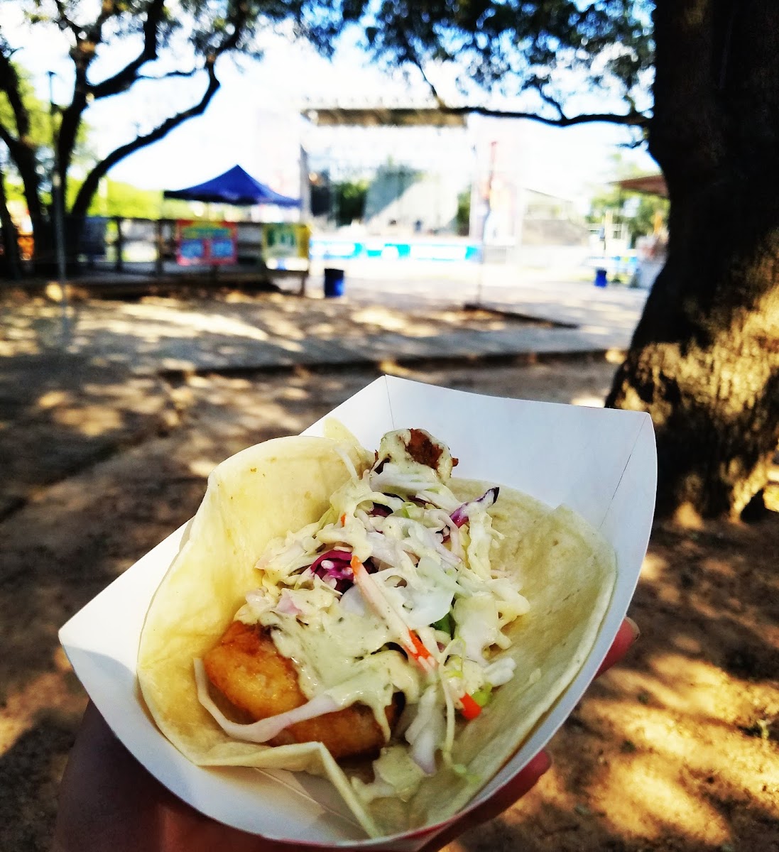
[[[494,318],[424,321],[466,320]],[[378,375],[351,366],[161,378],[78,355],[53,359],[37,341],[35,322],[20,320],[0,349],[0,849],[8,852],[49,849],[57,783],[84,710],[59,626],[193,514],[215,463],[304,429]],[[597,404],[615,366],[385,368],[488,394]],[[632,605],[638,644],[553,740],[554,765],[539,786],[452,850],[779,850],[777,566],[776,515],[657,525]]]

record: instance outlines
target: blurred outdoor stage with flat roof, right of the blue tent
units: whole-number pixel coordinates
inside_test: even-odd
[[[528,189],[521,121],[396,99],[309,101],[300,114],[314,220],[321,212],[314,204],[317,193],[332,202],[338,185],[367,187],[364,215],[352,229],[355,239],[468,238],[495,262],[516,262],[526,236],[532,244],[548,238],[551,246],[579,254],[586,246],[586,227],[574,221],[580,217],[570,213],[568,199]],[[563,212],[554,221],[535,215],[527,223],[540,197]],[[331,204],[326,213],[320,227],[332,229],[338,210]],[[342,217],[339,224],[349,222]]]

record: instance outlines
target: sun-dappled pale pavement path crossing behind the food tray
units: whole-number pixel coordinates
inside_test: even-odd
[[[141,372],[606,352],[628,347],[647,296],[647,291],[624,286],[517,280],[494,270],[479,274],[479,281],[401,277],[396,271],[386,279],[349,275],[345,295],[333,299],[321,297],[320,279],[314,274],[308,296],[287,293],[288,315],[281,322],[269,321],[245,304],[194,308],[184,315],[164,302],[113,302],[112,317],[76,305],[66,349],[110,363],[124,361]],[[342,333],[358,308],[366,306],[421,314],[464,305],[502,314],[505,322],[444,323],[430,333],[410,333],[399,323],[364,323],[364,333]],[[306,322],[311,314],[319,314],[322,321]],[[50,324],[48,333],[53,345],[57,334],[62,337],[56,324]]]

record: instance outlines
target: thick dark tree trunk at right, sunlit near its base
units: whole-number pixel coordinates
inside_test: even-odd
[[[666,266],[608,406],[649,412],[658,512],[736,516],[779,441],[779,3],[656,0]]]

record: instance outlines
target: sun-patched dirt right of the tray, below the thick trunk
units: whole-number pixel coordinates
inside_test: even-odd
[[[553,740],[539,788],[460,846],[779,848],[777,558],[776,519],[655,527],[638,644]]]

